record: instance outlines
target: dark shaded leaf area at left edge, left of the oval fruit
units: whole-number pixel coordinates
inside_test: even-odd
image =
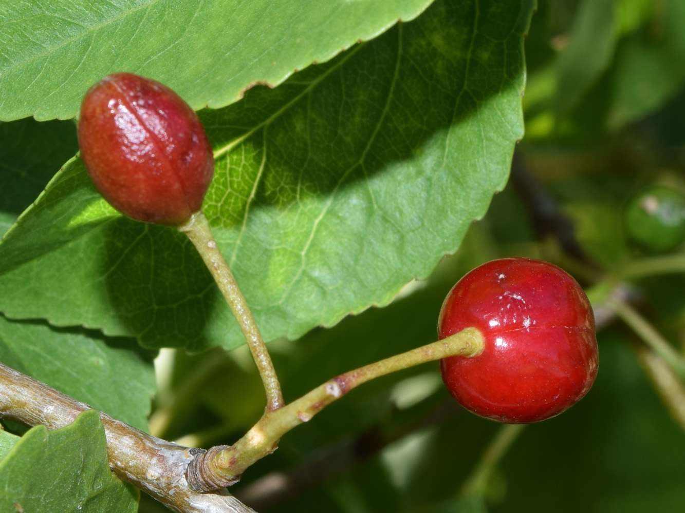
[[[73,122],[0,122],[0,236],[78,150]]]

